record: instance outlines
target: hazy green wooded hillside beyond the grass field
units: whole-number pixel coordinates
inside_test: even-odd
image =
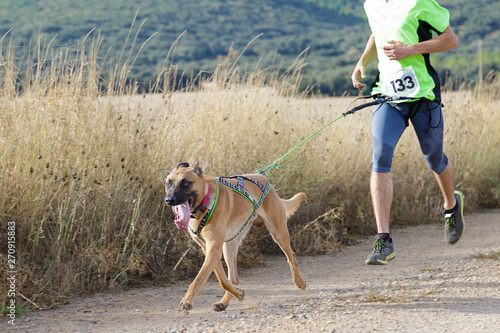
[[[483,72],[498,70],[500,3],[440,3],[450,9],[460,41],[457,50],[433,55],[443,79],[473,82],[477,78],[479,39]],[[305,81],[313,83],[316,92],[339,95],[356,93],[349,77],[369,34],[362,4],[362,0],[0,0],[0,33],[12,29],[4,44],[11,40],[19,48],[38,40],[41,33],[47,44],[52,41],[51,46],[71,51],[95,28],[88,38],[102,38],[100,55],[108,61],[122,52],[129,32],[126,53],[137,36],[134,56],[154,35],[144,45],[130,75],[144,83],[156,77],[181,35],[174,64],[191,76],[212,72],[231,48],[231,56],[239,56],[262,34],[245,50],[240,64],[253,68],[260,61],[261,68],[286,67],[308,49]],[[16,54],[21,57],[22,51]]]

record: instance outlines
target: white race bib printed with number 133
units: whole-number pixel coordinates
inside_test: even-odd
[[[380,76],[387,96],[415,97],[420,90],[420,84],[411,66]]]

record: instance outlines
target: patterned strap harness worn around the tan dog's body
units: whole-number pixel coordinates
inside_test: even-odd
[[[236,178],[237,183],[233,184],[229,180],[226,180],[226,179],[231,179],[231,178]],[[262,202],[264,201],[264,199],[266,198],[267,194],[269,193],[269,190],[271,188],[271,184],[269,184],[269,182],[266,182],[266,185],[262,185],[259,181],[255,180],[253,178],[245,177],[245,176],[241,176],[241,175],[230,176],[230,177],[217,177],[217,178],[215,178],[215,180],[217,182],[217,194],[216,194],[215,200],[213,201],[212,205],[210,205],[207,208],[207,213],[205,214],[205,216],[201,220],[200,224],[198,225],[198,229],[196,231],[193,231],[191,228],[189,228],[189,230],[193,234],[195,234],[196,236],[202,238],[201,237],[201,230],[203,229],[203,227],[210,220],[210,217],[212,216],[212,212],[215,209],[215,206],[217,205],[217,200],[219,198],[219,183],[221,183],[224,186],[229,187],[231,190],[233,190],[233,191],[241,194],[253,206],[253,211],[250,214],[250,216],[248,217],[248,219],[246,220],[246,222],[241,226],[241,228],[236,232],[236,234],[233,237],[231,237],[230,239],[225,240],[225,242],[230,242],[233,239],[235,239],[236,237],[238,237],[239,234],[241,234],[241,232],[245,229],[245,227],[248,225],[248,223],[250,223],[250,221],[252,220],[252,218],[255,216],[255,214],[257,213],[257,210],[262,205]],[[254,197],[252,197],[252,195],[250,193],[248,193],[248,191],[243,188],[243,184],[244,184],[245,180],[248,180],[248,181],[254,183],[262,191],[262,194],[260,195],[260,197],[259,197],[258,200],[255,200]]]

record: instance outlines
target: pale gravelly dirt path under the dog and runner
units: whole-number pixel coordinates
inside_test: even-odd
[[[393,230],[396,259],[387,266],[363,264],[371,239],[298,257],[306,291],[291,282],[284,256],[268,257],[240,273],[245,299],[224,312],[212,311],[222,290],[211,278],[189,313],[177,310],[186,282],[76,298],[20,316],[9,331],[500,332],[500,260],[471,258],[500,251],[500,210],[466,223],[455,246],[445,244],[442,226]]]

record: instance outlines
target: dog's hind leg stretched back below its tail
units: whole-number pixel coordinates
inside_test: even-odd
[[[306,289],[306,282],[299,272],[299,264],[295,258],[295,253],[290,245],[290,234],[288,233],[287,219],[285,211],[274,211],[271,216],[267,216],[266,227],[273,239],[285,253],[290,271],[292,272],[292,281],[300,289]]]

